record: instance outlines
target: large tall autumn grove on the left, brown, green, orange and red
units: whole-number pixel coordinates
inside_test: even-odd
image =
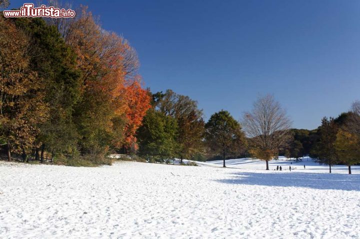
[[[135,50],[86,7],[75,18],[0,14],[0,141],[7,159],[104,159],[136,150],[150,107]],[[82,158],[84,159],[84,158]]]

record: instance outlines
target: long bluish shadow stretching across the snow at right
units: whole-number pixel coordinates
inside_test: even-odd
[[[303,187],[360,191],[360,175],[323,173],[231,173],[230,179],[215,180],[225,184],[245,184],[274,187]]]

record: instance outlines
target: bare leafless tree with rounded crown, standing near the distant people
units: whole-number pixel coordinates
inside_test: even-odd
[[[250,138],[250,153],[260,160],[271,160],[287,144],[291,121],[272,95],[259,97],[251,112],[243,115],[242,126]]]

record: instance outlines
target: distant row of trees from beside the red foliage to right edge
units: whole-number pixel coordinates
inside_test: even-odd
[[[147,161],[179,158],[204,161],[252,157],[268,161],[279,155],[310,156],[320,163],[360,163],[360,101],[337,118],[324,117],[314,130],[293,129],[285,110],[272,95],[258,97],[252,110],[236,121],[228,111],[212,114],[205,123],[196,101],[172,90],[152,95],[152,107],[138,130],[138,154]]]

